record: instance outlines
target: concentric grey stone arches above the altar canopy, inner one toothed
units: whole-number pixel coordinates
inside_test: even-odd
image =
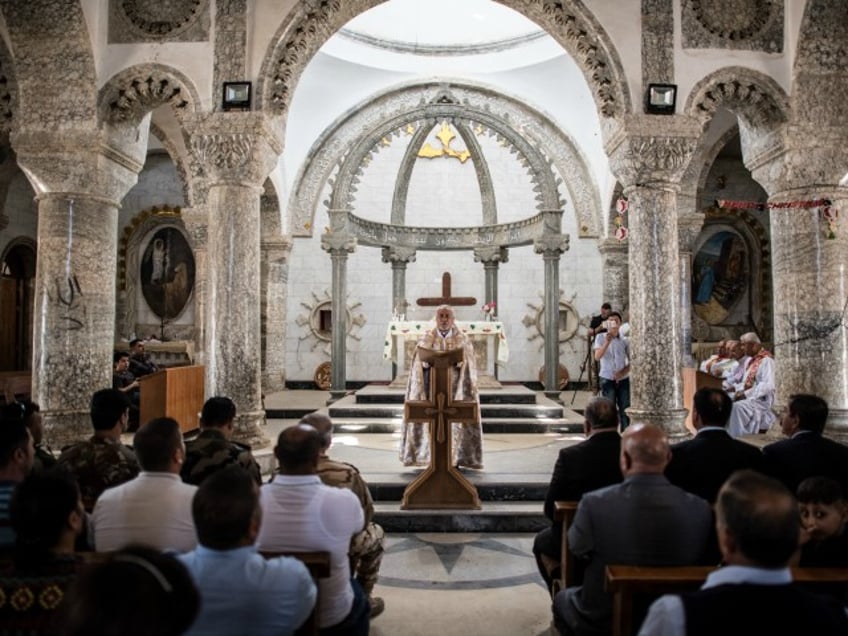
[[[587,160],[562,130],[524,104],[489,89],[443,83],[399,87],[367,100],[320,136],[295,181],[289,205],[292,235],[312,235],[315,212],[328,181],[334,184],[334,202],[353,209],[354,181],[362,162],[382,147],[381,140],[406,123],[437,117],[454,119],[458,126],[469,119],[483,122],[523,157],[540,188],[540,210],[562,207],[558,187],[564,185],[577,216],[579,235],[598,236],[602,226],[598,187]],[[556,173],[569,178],[560,184]],[[478,181],[480,178],[478,175]]]

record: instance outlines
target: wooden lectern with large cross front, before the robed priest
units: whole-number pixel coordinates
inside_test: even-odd
[[[430,400],[409,400],[403,415],[407,422],[430,427],[430,465],[403,491],[402,510],[456,508],[479,510],[480,497],[452,462],[452,422],[476,422],[480,406],[475,401],[452,399],[452,375],[463,361],[462,349],[432,351],[418,348],[418,358],[430,365]]]

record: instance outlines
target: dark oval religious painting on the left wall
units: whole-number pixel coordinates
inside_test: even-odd
[[[156,230],[147,242],[140,264],[141,293],[162,320],[182,314],[194,289],[194,254],[179,228]]]

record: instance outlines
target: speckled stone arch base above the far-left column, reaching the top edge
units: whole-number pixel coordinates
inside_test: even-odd
[[[80,0],[4,2],[2,12],[15,51],[16,128],[93,124],[97,72]]]

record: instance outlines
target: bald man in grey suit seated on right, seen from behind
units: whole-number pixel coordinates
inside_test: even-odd
[[[608,564],[692,565],[709,553],[710,505],[666,479],[670,458],[660,428],[632,424],[621,439],[624,481],[583,495],[568,544],[588,562],[583,585],[554,597],[562,636],[612,631],[612,596],[604,589]]]

